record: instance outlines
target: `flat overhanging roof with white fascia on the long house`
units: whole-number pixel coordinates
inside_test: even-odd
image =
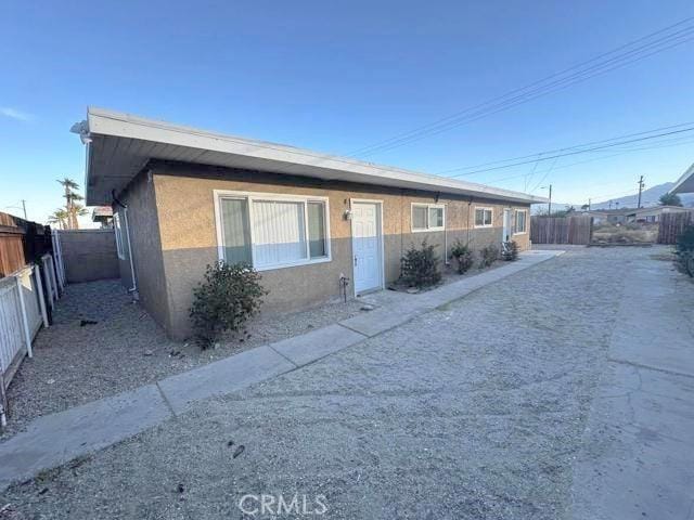
[[[268,171],[434,193],[547,203],[545,197],[474,182],[419,173],[307,150],[89,107],[73,126],[87,144],[86,203],[112,203],[151,159]]]

